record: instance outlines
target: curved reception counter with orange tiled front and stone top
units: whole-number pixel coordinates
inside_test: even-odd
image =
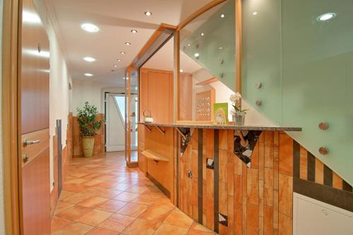
[[[330,191],[339,199],[327,203],[353,210],[352,187],[287,134],[299,127],[138,128],[140,169],[186,215],[219,234],[291,234],[294,192],[318,198]],[[312,191],[312,184],[322,188]]]

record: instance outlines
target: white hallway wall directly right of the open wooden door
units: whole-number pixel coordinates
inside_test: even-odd
[[[35,0],[35,6],[40,13],[44,26],[47,30],[50,43],[50,82],[49,82],[49,133],[50,133],[50,185],[54,188],[54,152],[53,135],[55,135],[56,119],[61,119],[61,145],[66,146],[66,130],[68,125],[68,112],[70,106],[70,92],[68,83],[71,76],[68,73],[64,54],[57,39],[53,26],[52,16],[48,13],[44,1]]]

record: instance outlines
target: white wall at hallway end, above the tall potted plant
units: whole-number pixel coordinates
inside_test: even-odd
[[[73,80],[72,109],[76,115],[76,109],[83,107],[85,102],[90,102],[98,108],[98,112],[104,114],[104,92],[124,92],[124,88],[111,83],[95,83],[85,80]]]

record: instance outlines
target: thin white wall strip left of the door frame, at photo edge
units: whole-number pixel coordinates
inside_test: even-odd
[[[3,1],[0,0],[0,65],[2,64],[2,52],[1,52],[1,45],[2,45],[2,11],[3,11]],[[2,67],[0,66],[0,84],[2,84]],[[1,104],[1,85],[0,85],[0,104]],[[0,108],[0,234],[5,234],[5,211],[4,211],[4,181],[3,181],[3,152],[2,152],[2,120],[1,120],[1,108]]]

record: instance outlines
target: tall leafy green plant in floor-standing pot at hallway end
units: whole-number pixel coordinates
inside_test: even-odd
[[[77,110],[77,121],[80,126],[80,135],[82,137],[83,155],[92,157],[93,147],[95,146],[95,134],[104,120],[97,120],[97,107],[85,102],[82,108]]]

